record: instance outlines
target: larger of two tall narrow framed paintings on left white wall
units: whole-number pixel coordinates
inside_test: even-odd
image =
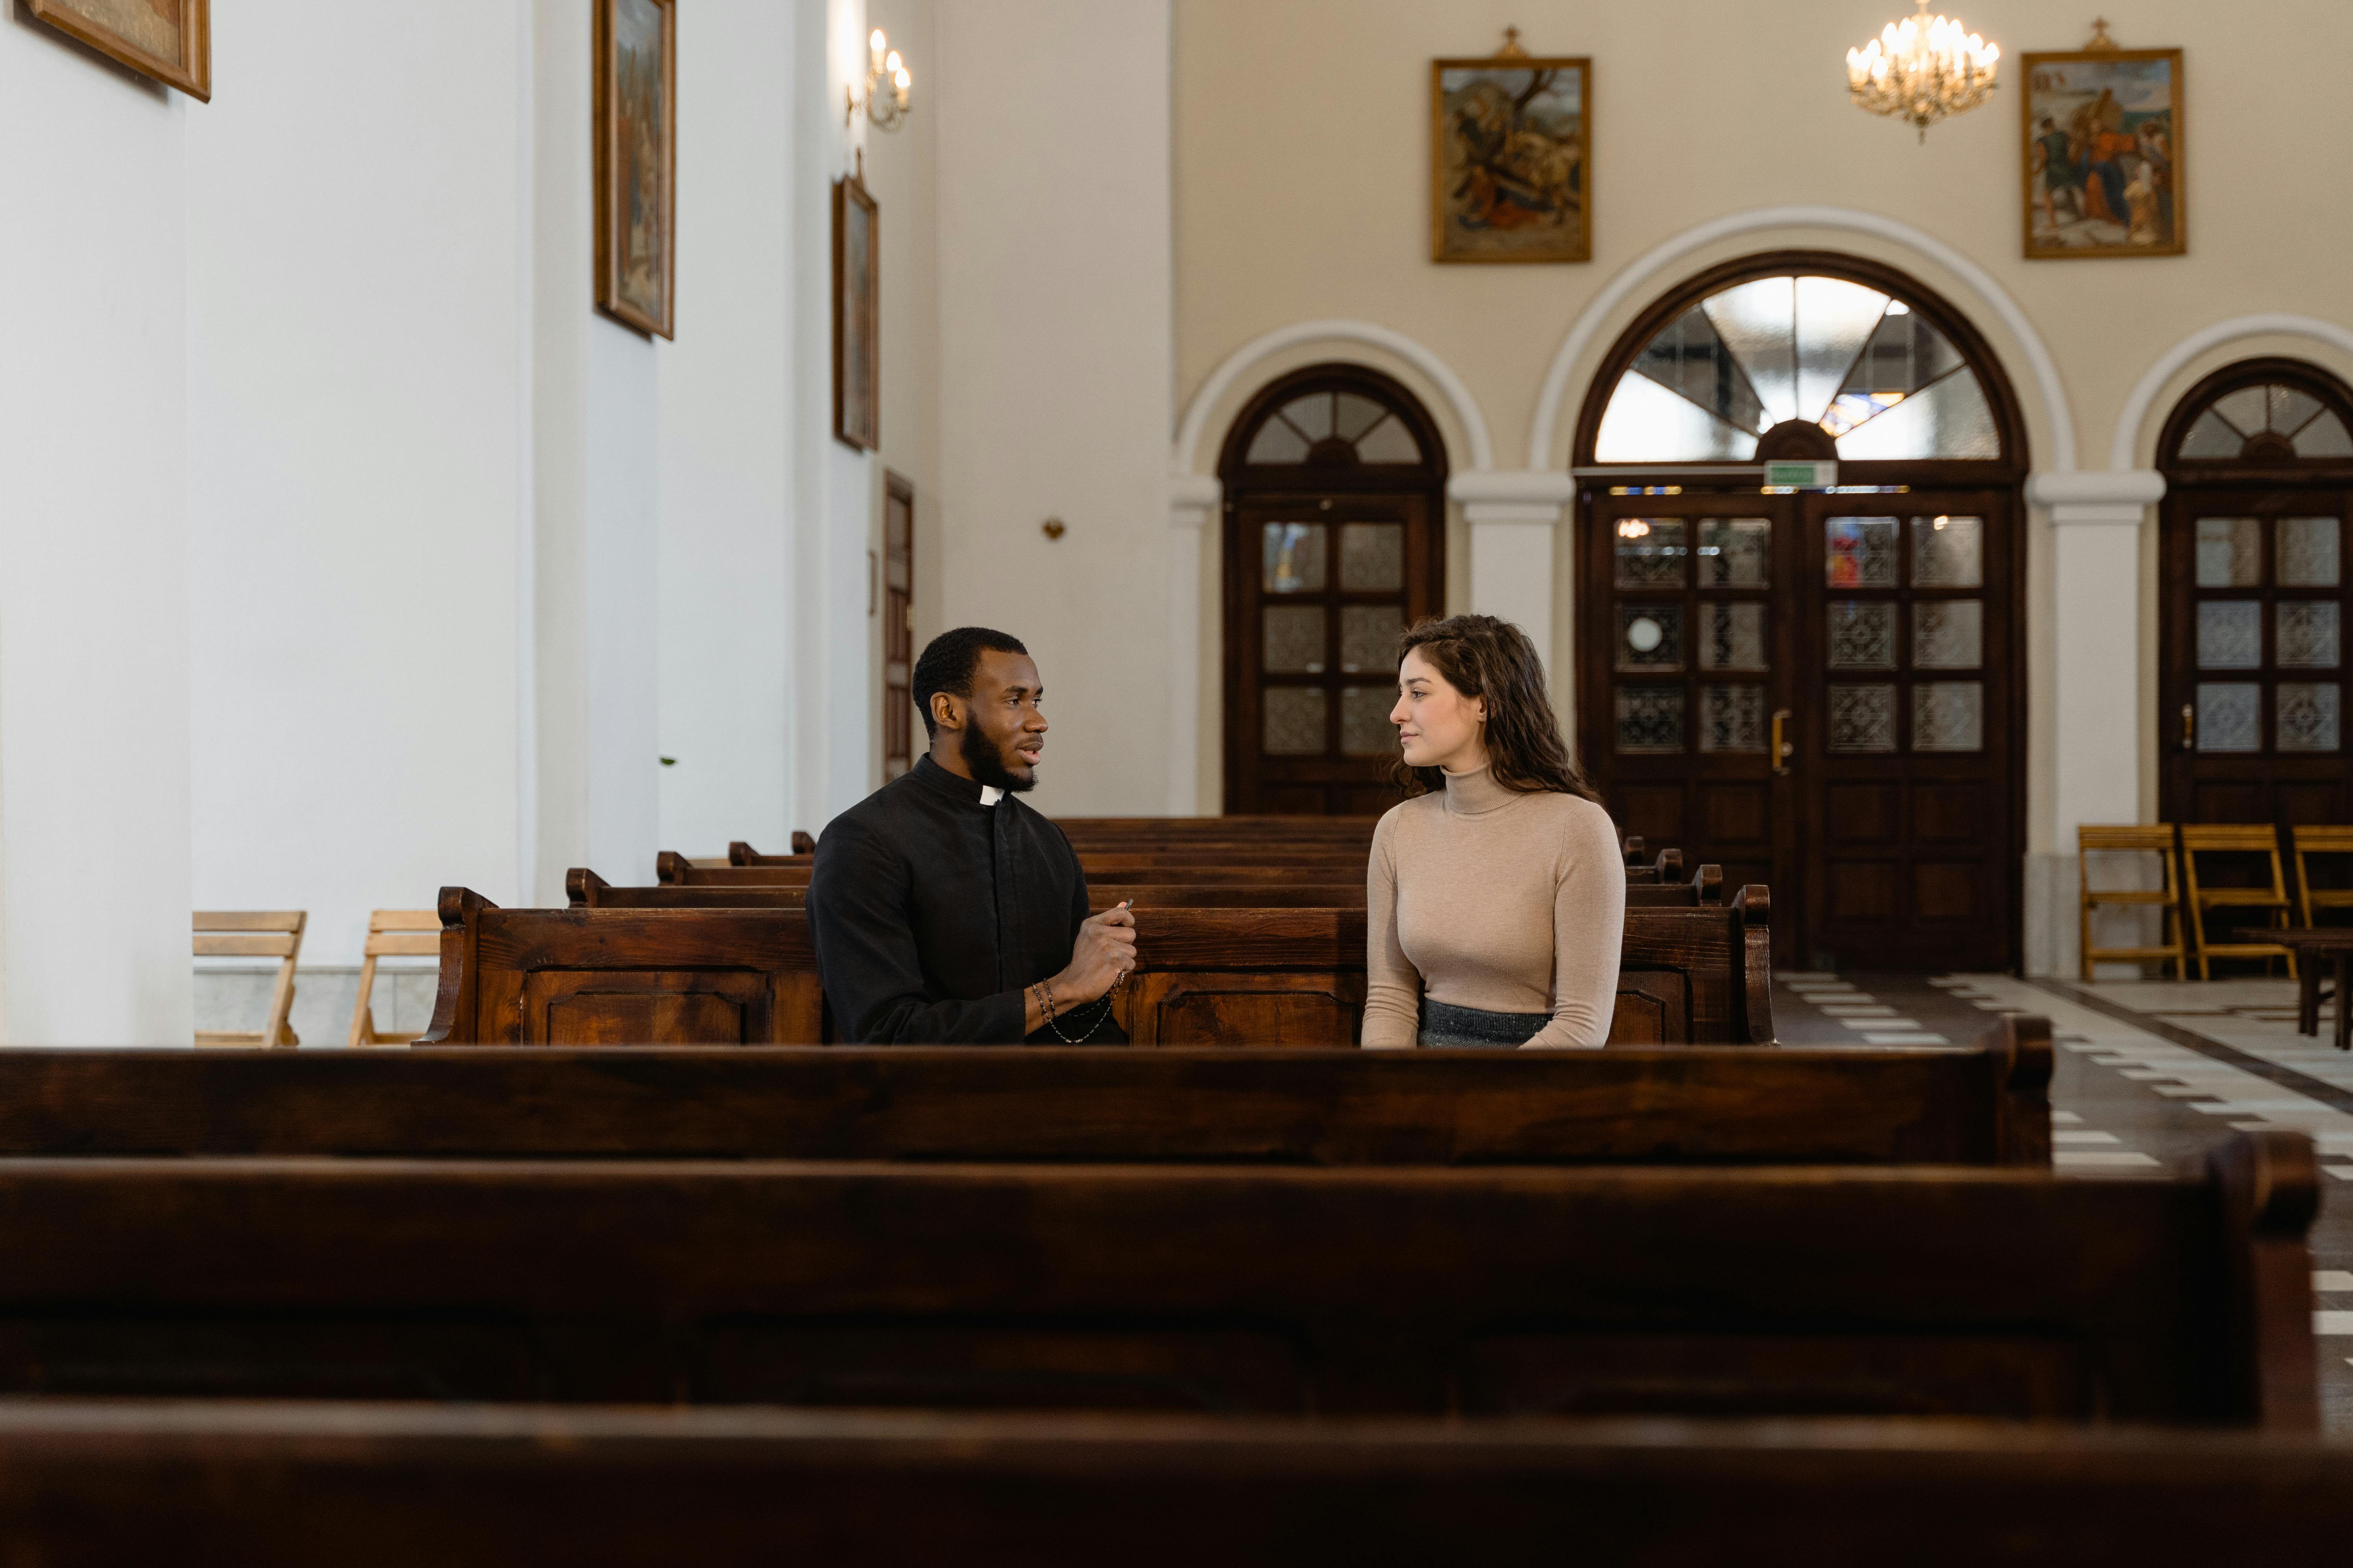
[[[678,0],[595,7],[595,303],[675,339]]]

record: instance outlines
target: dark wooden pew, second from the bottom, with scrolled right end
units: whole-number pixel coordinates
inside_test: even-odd
[[[2308,1432],[2315,1182],[7,1161],[0,1389]]]

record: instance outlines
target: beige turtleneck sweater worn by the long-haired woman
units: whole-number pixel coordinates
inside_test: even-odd
[[[1551,1013],[1529,1046],[1600,1046],[1617,1009],[1626,863],[1609,813],[1489,769],[1393,806],[1365,872],[1365,1046],[1412,1046],[1421,994]]]

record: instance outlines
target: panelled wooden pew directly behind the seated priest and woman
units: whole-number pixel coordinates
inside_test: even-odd
[[[767,867],[741,867],[765,872]],[[501,910],[442,889],[421,1044],[821,1044],[802,910]],[[1631,907],[1612,1044],[1772,1044],[1765,889]],[[1362,910],[1158,910],[1115,1001],[1139,1046],[1334,1046],[1365,1009]]]

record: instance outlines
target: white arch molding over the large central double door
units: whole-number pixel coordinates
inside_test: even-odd
[[[2002,327],[2009,329],[2019,353],[2026,355],[2026,369],[2033,374],[2035,390],[2042,397],[2042,414],[2052,430],[2052,461],[2047,468],[2061,473],[2075,468],[2075,416],[2068,409],[2066,388],[2059,381],[2059,364],[2042,343],[2042,334],[2035,331],[2031,320],[2026,320],[2019,301],[2009,299],[2009,292],[2002,289],[2002,284],[1998,284],[1986,268],[1977,266],[1937,235],[1913,228],[1911,223],[1899,223],[1897,219],[1878,212],[1805,205],[1755,207],[1753,212],[1734,212],[1701,223],[1699,228],[1687,228],[1673,240],[1652,247],[1626,270],[1612,277],[1609,287],[1595,294],[1584,313],[1579,313],[1577,324],[1569,327],[1569,336],[1560,341],[1560,350],[1553,355],[1553,364],[1544,374],[1544,393],[1537,397],[1537,416],[1527,428],[1527,465],[1534,470],[1553,465],[1553,430],[1560,428],[1560,404],[1569,395],[1569,376],[1577,374],[1579,362],[1593,348],[1593,339],[1600,336],[1602,327],[1628,296],[1664,287],[1657,282],[1659,275],[1692,252],[1701,252],[1737,235],[1765,233],[1774,228],[1835,228],[1842,233],[1871,235],[1875,240],[1918,252],[1969,284],[1969,289],[1979,296],[1979,303],[1993,310]]]

